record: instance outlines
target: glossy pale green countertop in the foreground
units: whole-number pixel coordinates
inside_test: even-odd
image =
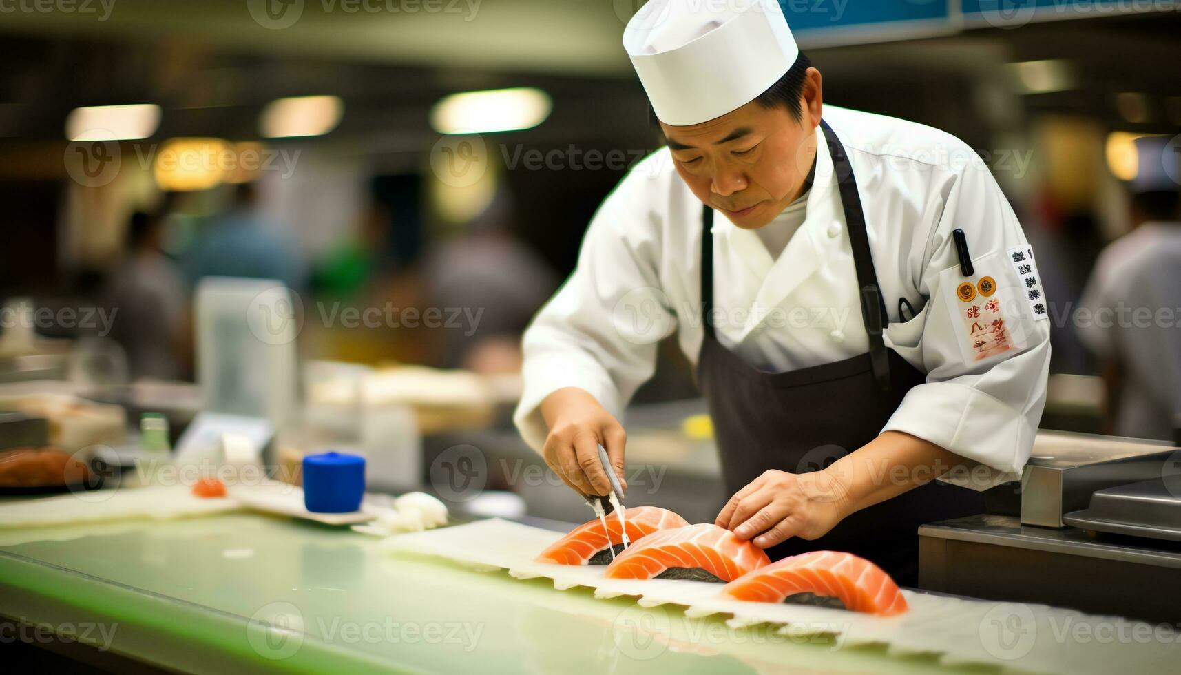
[[[347,528],[248,513],[0,531],[0,615],[222,675],[948,671],[885,648],[391,557]]]

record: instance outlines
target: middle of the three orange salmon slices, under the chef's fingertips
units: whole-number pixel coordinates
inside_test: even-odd
[[[703,523],[645,537],[607,565],[607,576],[614,579],[664,577],[730,582],[770,563],[758,546],[738,539],[725,527]],[[696,570],[704,570],[706,575],[687,573]]]

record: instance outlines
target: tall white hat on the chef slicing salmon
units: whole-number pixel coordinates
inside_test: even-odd
[[[624,48],[665,124],[700,124],[746,105],[800,56],[778,0],[650,0]]]

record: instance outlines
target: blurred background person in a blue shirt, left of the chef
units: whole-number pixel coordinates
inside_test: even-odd
[[[302,291],[307,272],[296,245],[282,223],[260,212],[255,183],[239,183],[231,194],[226,212],[201,228],[182,259],[189,285],[203,277],[248,277]]]

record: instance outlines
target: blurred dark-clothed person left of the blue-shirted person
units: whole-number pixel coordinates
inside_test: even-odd
[[[131,215],[126,253],[105,294],[115,312],[110,337],[126,352],[132,379],[175,379],[185,371],[188,294],[176,262],[163,252],[163,234],[158,214]]]

